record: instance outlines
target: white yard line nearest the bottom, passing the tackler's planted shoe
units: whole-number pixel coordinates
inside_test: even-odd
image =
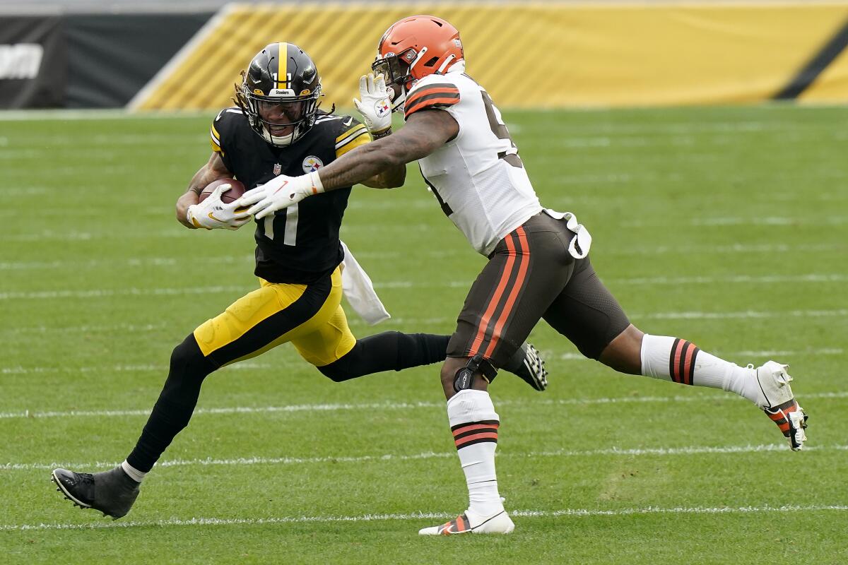
[[[524,518],[591,518],[594,516],[633,516],[639,514],[756,514],[763,512],[845,512],[848,506],[830,505],[762,505],[748,507],[636,507],[603,510],[593,508],[563,508],[561,510],[510,510],[512,517]],[[410,514],[361,514],[359,516],[281,516],[269,518],[169,518],[127,522],[92,523],[8,523],[0,531],[32,531],[54,529],[114,529],[167,526],[231,526],[282,523],[383,522],[388,520],[444,520],[455,518],[445,512],[414,512]]]

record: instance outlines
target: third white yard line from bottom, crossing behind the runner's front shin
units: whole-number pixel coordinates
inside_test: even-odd
[[[801,400],[811,399],[842,399],[848,398],[848,391],[835,392],[812,392],[805,394]],[[694,393],[686,396],[611,396],[599,398],[561,398],[561,399],[533,399],[533,400],[510,400],[496,399],[498,406],[516,407],[540,407],[540,406],[589,406],[594,404],[644,404],[663,402],[741,402],[739,396],[729,394],[701,394]],[[262,413],[324,413],[343,411],[378,411],[378,410],[411,410],[411,409],[438,409],[444,410],[444,402],[351,402],[332,404],[290,404],[284,406],[259,406],[259,407],[219,407],[198,408],[195,415],[201,414],[262,414]],[[0,412],[0,419],[8,418],[99,418],[99,417],[124,417],[124,416],[147,416],[149,409],[132,410],[68,410],[56,412]]]

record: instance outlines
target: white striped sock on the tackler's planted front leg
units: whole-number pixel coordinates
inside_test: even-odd
[[[503,511],[494,470],[498,414],[486,391],[460,391],[448,401],[450,429],[468,485],[468,510],[480,518]]]

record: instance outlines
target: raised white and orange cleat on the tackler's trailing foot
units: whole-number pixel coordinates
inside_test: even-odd
[[[765,396],[765,402],[761,405],[763,412],[778,424],[780,431],[789,439],[792,451],[801,451],[806,441],[808,417],[795,401],[792,387],[789,386],[792,377],[786,372],[787,368],[789,365],[768,361],[756,368],[756,380]]]

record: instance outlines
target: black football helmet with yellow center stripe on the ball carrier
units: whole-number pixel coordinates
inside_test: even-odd
[[[235,102],[262,139],[286,147],[315,125],[321,96],[310,56],[292,43],[271,43],[242,71]]]

